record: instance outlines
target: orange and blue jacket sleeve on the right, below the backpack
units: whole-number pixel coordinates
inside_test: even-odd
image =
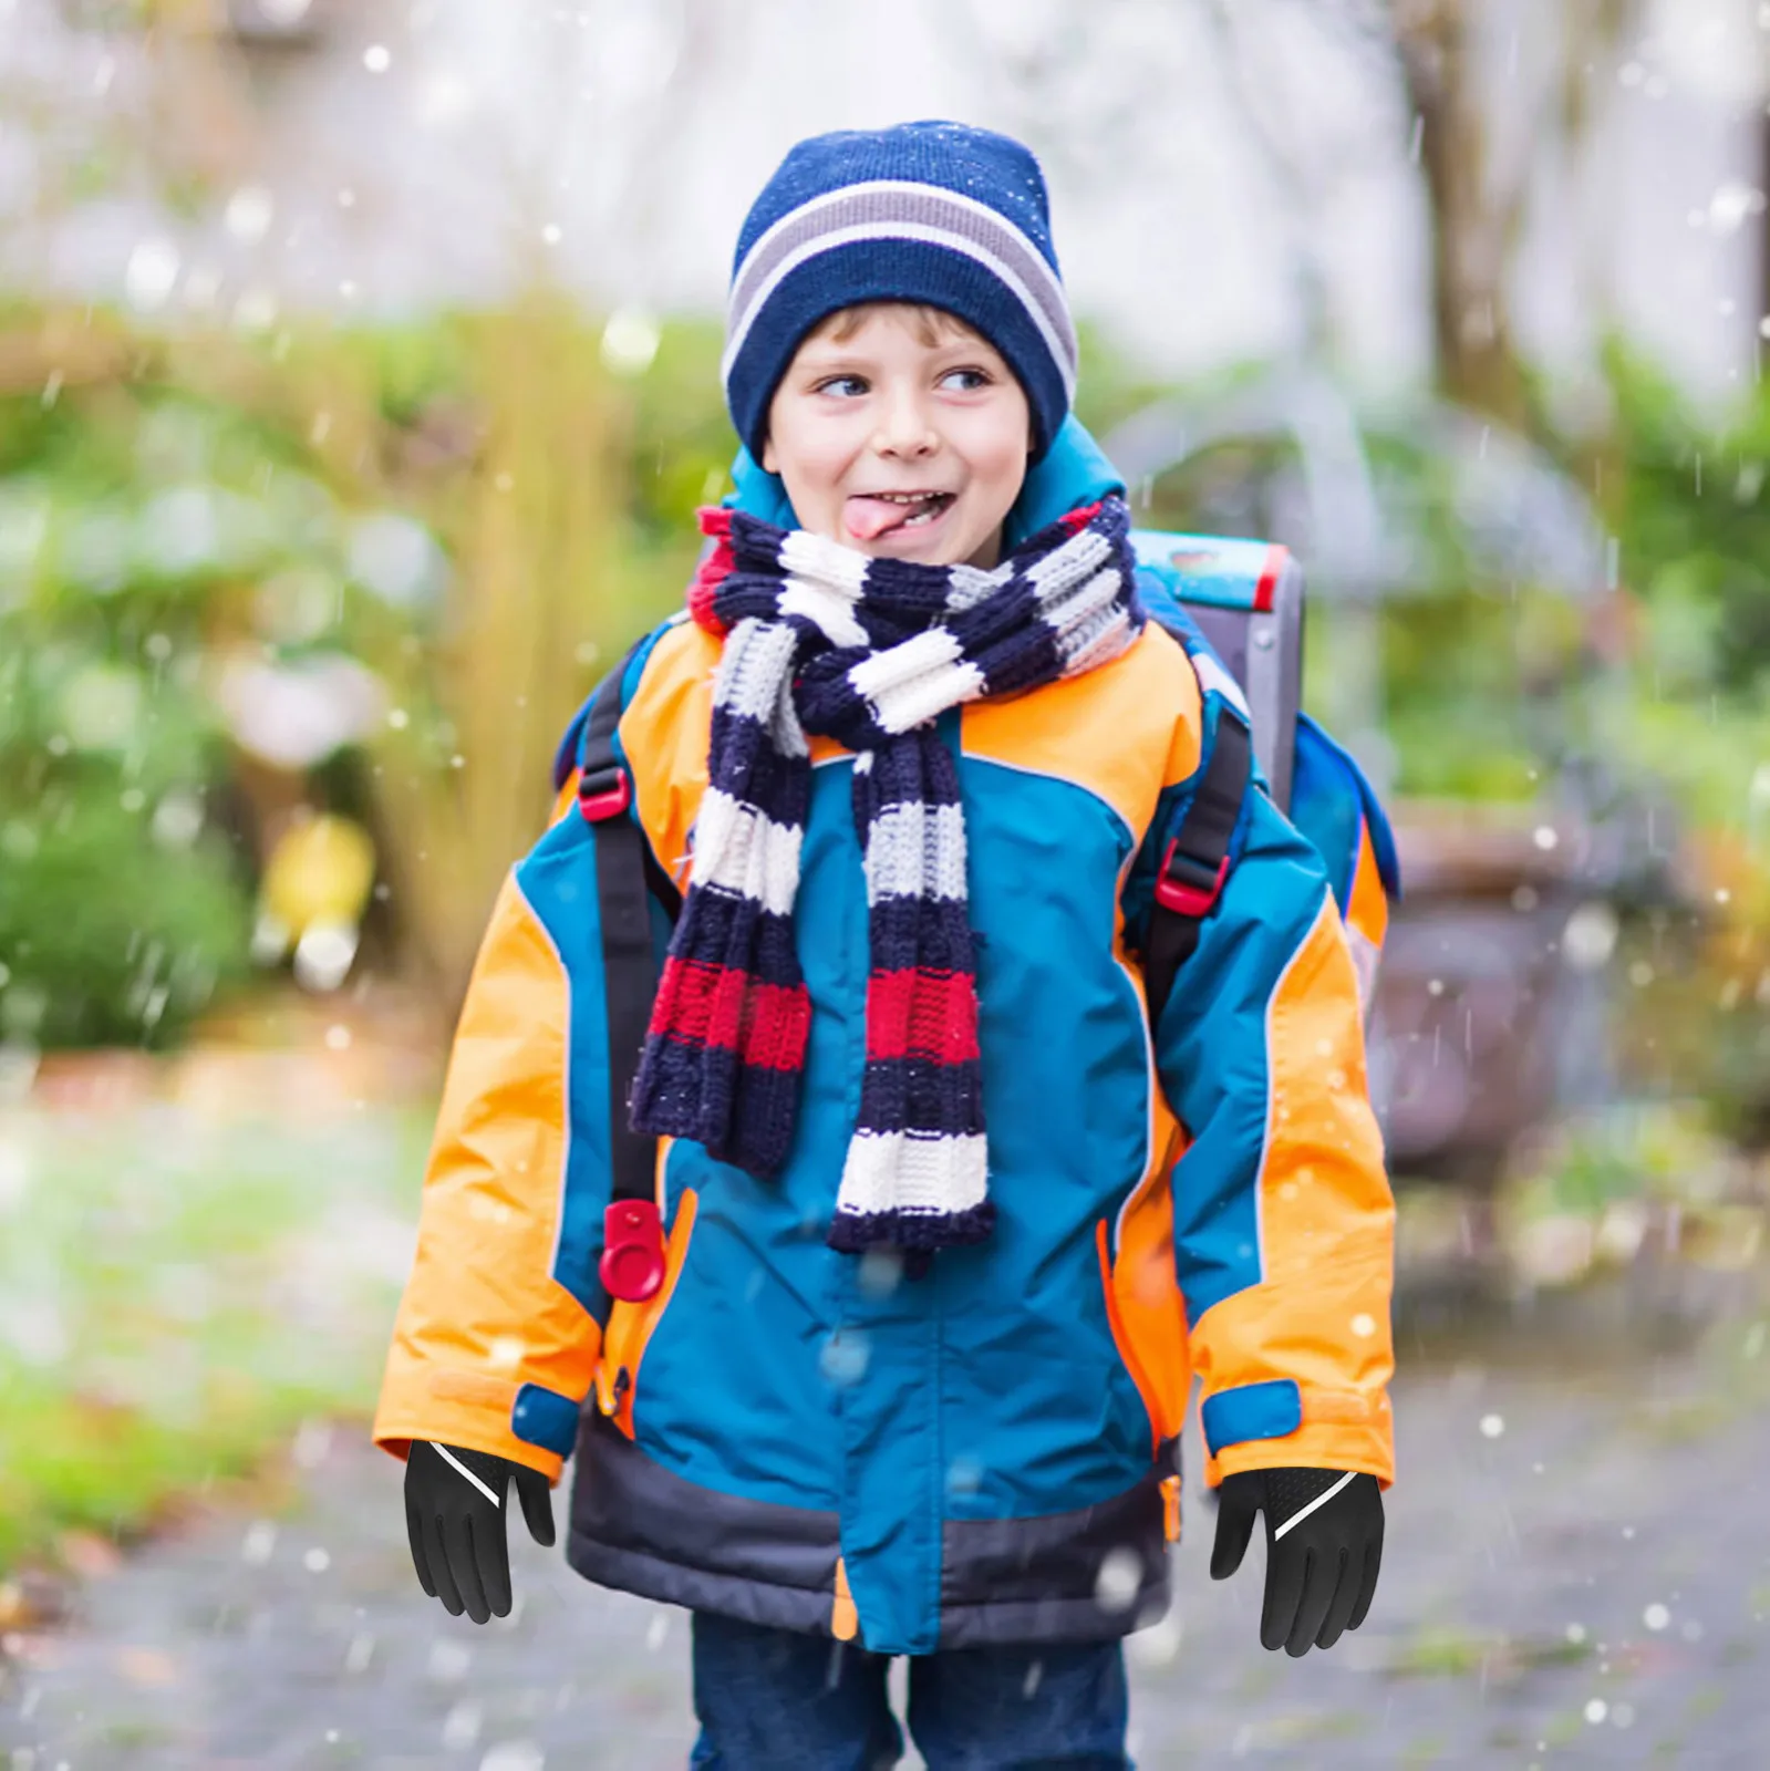
[[[1134,870],[1141,917],[1199,772],[1162,795]],[[1320,855],[1258,788],[1231,857],[1155,1027],[1185,1137],[1175,1261],[1205,1481],[1302,1465],[1387,1486],[1394,1201],[1352,953]]]

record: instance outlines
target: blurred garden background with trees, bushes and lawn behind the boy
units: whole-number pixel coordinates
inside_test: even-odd
[[[1371,1064],[1419,1419],[1455,1396],[1469,1456],[1497,1456],[1508,1419],[1564,1427],[1603,1373],[1658,1394],[1651,1369],[1761,1431],[1766,44],[1756,0],[0,0],[14,1767],[57,1739],[209,1762],[165,1746],[193,1714],[175,1557],[220,1541],[271,1578],[266,1521],[328,1458],[392,1509],[363,1566],[418,1606],[397,1472],[337,1447],[374,1396],[454,1013],[563,724],[679,602],[693,512],[730,483],[730,250],[819,129],[1028,140],[1079,413],[1139,521],[1308,570],[1306,705],[1401,841]],[[1494,1383],[1538,1399],[1495,1411]],[[1462,1458],[1456,1431],[1423,1456]],[[1499,1562],[1531,1560],[1506,1527]],[[159,1555],[170,1585],[117,1587]],[[138,1590],[135,1635],[106,1583]],[[1485,1705],[1508,1667],[1621,1677],[1559,1613],[1444,1603],[1364,1668],[1428,1744],[1448,1690]],[[1690,1743],[1749,1681],[1703,1659],[1719,1636],[1678,1640],[1722,1695],[1680,1697],[1697,1734],[1660,1746],[1724,1762]],[[466,1663],[429,1652],[413,1690],[445,1732],[399,1762],[537,1764],[546,1730],[505,1750],[454,1691]],[[184,1723],[110,1716],[135,1698]],[[1525,1762],[1634,1714],[1584,1686],[1540,1707],[1479,1739]],[[383,1762],[340,1727],[227,1762]],[[1295,1746],[1249,1727],[1192,1750]],[[1361,1739],[1347,1762],[1403,1762]],[[648,1752],[608,1762],[670,1762]]]

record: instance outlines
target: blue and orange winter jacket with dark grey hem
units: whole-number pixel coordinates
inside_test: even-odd
[[[1070,425],[1013,531],[1114,483]],[[780,519],[780,483],[739,499]],[[719,643],[633,657],[633,816],[686,882]],[[611,691],[604,691],[611,692]],[[1249,792],[1161,1024],[1139,951],[1215,692],[1157,623],[1118,661],[941,715],[976,932],[992,1240],[927,1277],[826,1247],[865,1063],[852,758],[813,740],[797,900],[811,997],[769,1181],[663,1141],[666,1279],[597,1280],[608,1031],[595,825],[567,790],[473,971],[374,1436],[558,1479],[586,1578],[882,1652],[1111,1638],[1166,1605],[1178,1436],[1203,1477],[1393,1477],[1393,1201],[1359,990],[1315,848]],[[654,912],[659,956],[668,935]]]

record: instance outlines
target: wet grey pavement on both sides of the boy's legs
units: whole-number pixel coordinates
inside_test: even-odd
[[[1770,1762],[1766,1330],[1735,1300],[1655,1351],[1637,1305],[1449,1353],[1403,1328],[1382,1583],[1329,1654],[1260,1649],[1258,1541],[1212,1583],[1194,1498],[1175,1608],[1130,1643],[1143,1771]],[[524,1534],[517,1613],[477,1629],[418,1590],[399,1466],[360,1424],[308,1429],[289,1466],[287,1504],[197,1516],[69,1626],[5,1638],[0,1767],[684,1764],[682,1612]]]

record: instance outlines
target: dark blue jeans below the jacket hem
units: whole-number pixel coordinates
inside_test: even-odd
[[[702,1771],[888,1771],[904,1734],[886,1654],[695,1613],[689,1757]],[[928,1771],[1132,1771],[1116,1642],[948,1649],[909,1663],[909,1732]]]

